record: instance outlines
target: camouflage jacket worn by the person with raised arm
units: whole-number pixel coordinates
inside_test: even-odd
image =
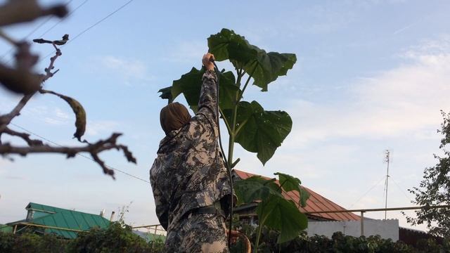
[[[214,71],[203,74],[197,114],[162,139],[150,169],[156,214],[166,231],[190,210],[231,193],[217,141],[216,82]]]

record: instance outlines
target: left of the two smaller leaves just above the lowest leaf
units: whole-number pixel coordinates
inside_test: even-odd
[[[275,183],[275,179],[263,179],[261,176],[252,176],[248,179],[233,183],[238,205],[252,203],[255,200],[265,200],[271,195],[283,197],[281,188]]]

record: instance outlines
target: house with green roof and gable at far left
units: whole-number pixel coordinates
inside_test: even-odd
[[[21,233],[31,229],[34,233],[53,233],[61,238],[76,238],[78,233],[89,229],[107,228],[108,219],[97,214],[88,214],[70,209],[51,207],[30,202],[27,207],[27,218],[7,223],[13,228],[13,233]]]

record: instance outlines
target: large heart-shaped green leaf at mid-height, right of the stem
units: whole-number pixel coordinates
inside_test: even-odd
[[[231,110],[224,113],[231,122]],[[256,101],[241,101],[236,125],[239,131],[235,141],[245,150],[257,153],[258,159],[265,164],[290,133],[293,121],[288,112],[266,111]]]

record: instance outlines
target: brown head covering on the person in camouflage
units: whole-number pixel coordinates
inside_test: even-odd
[[[166,135],[172,130],[181,129],[190,120],[188,109],[181,103],[169,103],[161,109],[160,122]]]

